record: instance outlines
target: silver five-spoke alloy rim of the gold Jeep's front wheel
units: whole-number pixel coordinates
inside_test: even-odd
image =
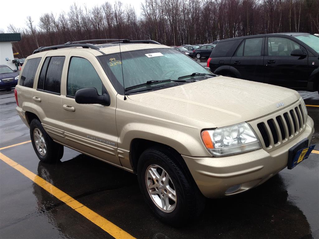
[[[159,165],[150,165],[145,173],[147,191],[154,204],[163,212],[170,213],[176,206],[176,191],[172,179]]]

